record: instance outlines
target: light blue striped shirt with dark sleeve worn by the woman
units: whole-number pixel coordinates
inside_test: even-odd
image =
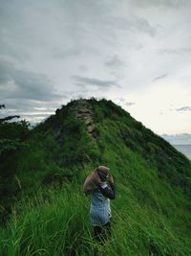
[[[101,226],[110,221],[112,217],[110,198],[115,198],[114,184],[108,186],[104,183],[91,194],[90,221],[93,226]]]

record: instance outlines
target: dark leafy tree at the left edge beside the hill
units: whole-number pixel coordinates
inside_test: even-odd
[[[0,109],[5,105],[0,105]],[[19,152],[25,149],[30,135],[30,124],[25,121],[9,122],[18,115],[0,118],[0,198],[9,197],[15,192],[16,172],[19,163]],[[1,211],[0,211],[1,217]]]

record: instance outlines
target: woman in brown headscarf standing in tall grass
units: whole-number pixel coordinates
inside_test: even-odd
[[[110,169],[105,166],[97,167],[87,176],[83,185],[83,192],[91,197],[90,221],[93,226],[93,236],[100,243],[104,243],[111,235],[110,199],[115,199],[116,191],[113,176],[109,171]]]

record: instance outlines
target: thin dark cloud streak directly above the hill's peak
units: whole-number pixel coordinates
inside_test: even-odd
[[[77,85],[92,85],[97,87],[111,87],[111,86],[119,86],[117,84],[117,81],[108,81],[108,80],[98,80],[95,78],[86,78],[86,77],[80,77],[80,76],[73,76],[72,79],[76,81]]]

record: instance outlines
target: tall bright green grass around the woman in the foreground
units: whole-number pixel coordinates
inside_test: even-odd
[[[125,186],[112,201],[113,236],[99,255],[191,255],[187,235],[164,215],[138,203]],[[89,198],[74,181],[60,189],[39,188],[12,208],[0,230],[0,255],[94,255],[88,218]]]

